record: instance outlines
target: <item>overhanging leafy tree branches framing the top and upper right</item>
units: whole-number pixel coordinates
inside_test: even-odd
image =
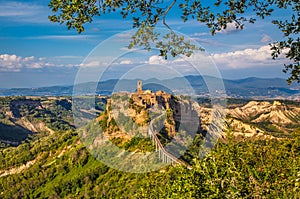
[[[271,16],[275,9],[285,9],[291,15],[285,20],[273,20],[272,23],[284,35],[282,41],[270,44],[273,59],[285,54],[292,61],[285,65],[283,72],[289,73],[288,83],[300,83],[300,4],[299,0],[183,0],[181,2],[164,0],[51,0],[49,7],[53,15],[50,21],[66,23],[68,29],[84,31],[84,24],[92,22],[95,16],[119,12],[123,18],[132,17],[133,28],[137,31],[132,36],[129,48],[142,46],[151,50],[154,43],[160,49],[160,55],[168,58],[179,54],[190,56],[194,50],[202,50],[191,44],[183,36],[178,36],[166,22],[170,10],[179,6],[183,22],[193,19],[205,24],[212,35],[228,24],[236,29],[243,29],[245,23],[255,23],[257,18]],[[218,10],[218,12],[216,12]],[[246,12],[254,12],[255,17],[247,17]],[[162,22],[170,32],[161,36],[155,27]]]

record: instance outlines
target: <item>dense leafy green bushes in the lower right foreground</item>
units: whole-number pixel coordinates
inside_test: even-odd
[[[137,198],[297,198],[299,135],[294,140],[217,144],[193,169],[151,178]],[[164,187],[159,189],[157,187]]]

